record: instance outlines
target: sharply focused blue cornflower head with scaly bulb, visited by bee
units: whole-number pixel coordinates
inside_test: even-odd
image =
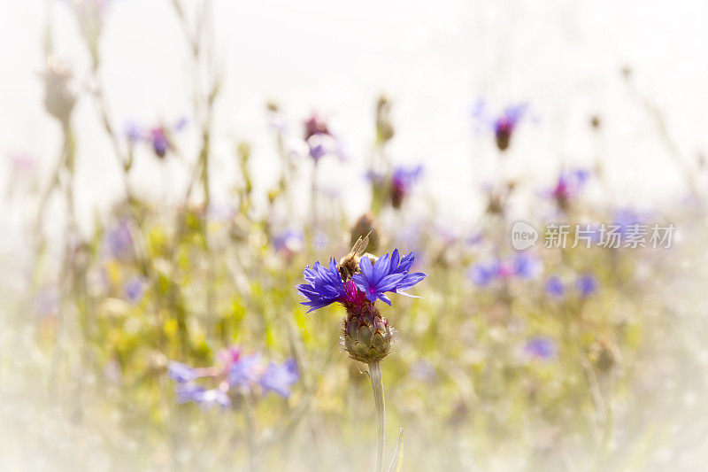
[[[334,258],[330,259],[327,268],[315,262],[312,268],[305,268],[307,283],[298,285],[297,289],[307,298],[303,305],[310,306],[308,313],[335,302],[344,306],[347,311],[342,328],[344,349],[352,359],[370,363],[386,357],[393,343],[389,321],[376,307],[376,300],[391,305],[386,293],[413,297],[405,290],[411,289],[426,275],[410,272],[415,260],[412,252],[404,258],[397,249],[380,258],[370,254],[353,258],[353,275],[349,270],[340,271]]]

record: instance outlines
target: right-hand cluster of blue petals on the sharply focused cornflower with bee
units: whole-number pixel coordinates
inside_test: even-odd
[[[422,272],[408,273],[414,260],[415,256],[412,252],[400,259],[397,249],[390,256],[389,254],[384,254],[374,264],[365,256],[359,260],[360,272],[355,274],[351,280],[357,285],[359,290],[364,292],[370,302],[373,303],[376,298],[379,298],[391,305],[391,300],[384,295],[385,292],[399,293],[412,297],[412,295],[405,293],[404,290],[410,289],[413,285],[426,278],[426,275]]]

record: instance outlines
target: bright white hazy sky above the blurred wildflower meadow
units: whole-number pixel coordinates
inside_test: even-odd
[[[49,4],[58,54],[85,81],[87,51],[65,2],[0,2],[0,154],[27,153],[45,171],[61,145],[58,125],[42,110],[37,77]],[[480,184],[491,176],[492,140],[475,135],[469,117],[478,97],[495,109],[531,104],[534,120],[519,128],[506,163],[526,191],[549,185],[562,164],[590,165],[599,155],[615,197],[654,203],[681,191],[683,182],[655,122],[621,79],[625,64],[635,88],[665,114],[682,159],[696,159],[707,144],[704,2],[220,0],[214,11],[216,58],[226,77],[216,120],[218,179],[235,173],[234,143],[246,139],[254,146],[258,189],[273,182],[265,103],[275,99],[294,128],[312,110],[330,118],[351,160],[344,172],[325,163],[324,177],[351,189],[343,196],[347,208],[360,212],[373,105],[383,91],[394,103],[391,155],[426,166],[419,202],[433,196],[443,219],[472,219]],[[112,2],[101,50],[112,119],[121,127],[189,113],[189,56],[170,1]],[[598,140],[589,133],[592,113],[603,120]],[[77,199],[87,216],[121,192],[96,116],[88,99],[74,116]],[[181,136],[186,149],[195,135],[192,128]],[[133,182],[162,198],[182,174],[181,164],[158,164],[145,152]]]

